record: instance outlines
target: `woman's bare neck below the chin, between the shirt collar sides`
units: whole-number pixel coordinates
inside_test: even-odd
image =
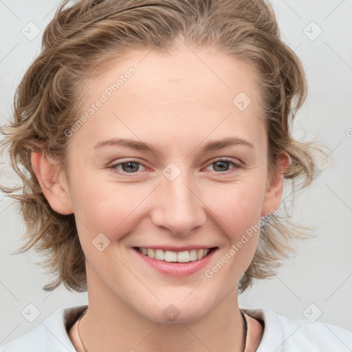
[[[242,351],[243,319],[236,287],[197,319],[153,321],[124,304],[104,285],[89,285],[89,306],[80,322],[86,352]],[[155,303],[150,309],[162,309]],[[181,307],[181,305],[179,305]],[[181,314],[180,314],[181,317]]]

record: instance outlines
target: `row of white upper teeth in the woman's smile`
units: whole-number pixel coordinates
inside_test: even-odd
[[[189,261],[197,261],[206,256],[209,248],[203,250],[185,250],[184,252],[172,252],[170,250],[154,250],[153,248],[138,248],[138,250],[151,258],[158,261],[188,263]]]

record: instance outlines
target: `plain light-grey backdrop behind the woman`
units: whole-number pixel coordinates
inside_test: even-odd
[[[0,1],[1,124],[10,116],[14,90],[39,54],[43,30],[58,3]],[[333,164],[296,197],[293,217],[316,226],[316,237],[302,243],[276,276],[242,294],[240,306],[270,307],[289,318],[313,317],[352,330],[352,1],[272,3],[281,36],[303,62],[309,85],[294,135],[327,146]],[[0,177],[18,182],[5,164]],[[0,344],[30,331],[61,307],[87,304],[87,294],[65,287],[43,291],[51,278],[34,263],[41,259],[34,252],[11,254],[22,243],[24,224],[10,201],[0,194]],[[33,322],[21,313],[32,307],[28,305],[38,310]]]

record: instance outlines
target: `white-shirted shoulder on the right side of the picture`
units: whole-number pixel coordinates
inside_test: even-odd
[[[336,352],[352,350],[352,333],[340,327],[307,319],[289,319],[272,309],[243,309],[263,320],[264,333],[257,352]]]

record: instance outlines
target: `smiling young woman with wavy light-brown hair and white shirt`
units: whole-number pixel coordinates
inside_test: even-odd
[[[0,351],[351,348],[349,331],[238,304],[305,236],[276,210],[284,179],[311,183],[319,150],[290,134],[305,74],[270,5],[65,5],[4,146],[25,184],[23,250],[49,251],[45,289],[87,290],[89,305]]]

